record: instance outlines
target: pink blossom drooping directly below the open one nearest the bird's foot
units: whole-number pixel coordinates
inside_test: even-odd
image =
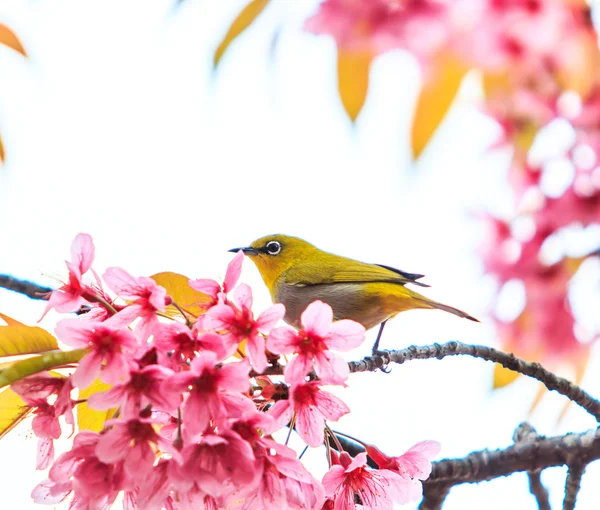
[[[269,410],[278,425],[284,426],[296,413],[296,429],[309,446],[323,443],[325,420],[337,421],[350,409],[338,397],[319,388],[316,381],[290,387],[287,400],[280,400]]]

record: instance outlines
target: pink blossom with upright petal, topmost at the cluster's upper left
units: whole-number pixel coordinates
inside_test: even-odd
[[[84,284],[82,280],[83,275],[90,270],[94,262],[94,243],[88,234],[78,234],[75,237],[71,245],[71,258],[71,262],[66,261],[69,281],[59,289],[52,291],[42,318],[52,308],[55,308],[57,312],[74,312],[81,305],[86,304],[89,299],[93,299],[94,295],[105,297],[97,276],[97,286]]]

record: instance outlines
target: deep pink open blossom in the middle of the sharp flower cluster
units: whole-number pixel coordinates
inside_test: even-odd
[[[249,370],[246,360],[221,365],[214,352],[203,351],[192,361],[189,371],[168,378],[163,390],[181,395],[191,387],[182,417],[186,430],[195,435],[204,432],[211,419],[226,424],[229,418],[253,407],[252,401],[240,393],[248,391]]]

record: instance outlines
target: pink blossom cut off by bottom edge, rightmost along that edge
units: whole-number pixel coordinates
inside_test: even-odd
[[[392,510],[394,503],[408,503],[405,480],[388,469],[367,467],[367,454],[359,453],[352,459],[346,452],[340,455],[340,464],[331,466],[323,477],[327,497],[334,501],[334,510],[362,508]]]

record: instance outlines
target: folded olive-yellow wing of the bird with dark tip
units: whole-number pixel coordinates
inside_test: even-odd
[[[295,264],[284,275],[288,285],[322,285],[332,283],[412,283],[421,287],[429,287],[418,282],[422,274],[407,273],[400,269],[378,264],[367,264],[345,257],[319,257],[319,260]]]

